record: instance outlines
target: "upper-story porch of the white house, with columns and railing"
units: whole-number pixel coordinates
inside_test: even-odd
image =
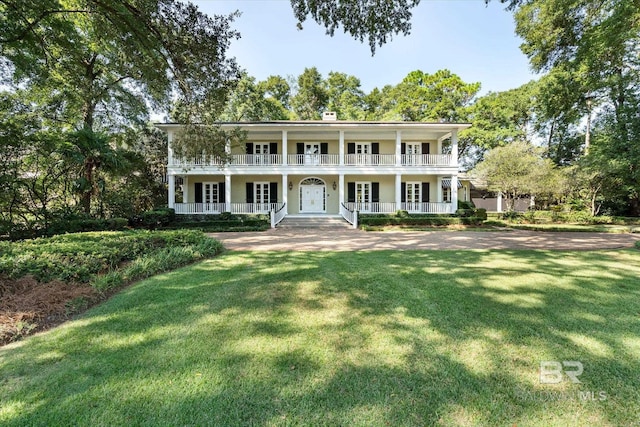
[[[182,159],[169,149],[169,167],[353,166],[456,167],[458,130],[466,124],[372,122],[238,123],[246,142],[227,146],[227,159]],[[179,125],[160,125],[169,134]],[[234,126],[225,124],[224,126]]]

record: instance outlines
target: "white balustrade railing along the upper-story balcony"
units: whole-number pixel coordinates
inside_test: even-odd
[[[345,154],[345,166],[394,166],[397,164],[395,154]],[[338,166],[339,154],[289,154],[287,162],[292,166]],[[282,154],[233,154],[231,166],[282,166]],[[450,154],[402,154],[402,166],[449,166]],[[195,159],[174,158],[170,166],[204,167],[223,166],[219,157],[198,157]]]

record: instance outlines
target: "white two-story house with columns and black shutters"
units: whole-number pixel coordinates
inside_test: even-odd
[[[176,214],[454,213],[458,199],[469,198],[458,180],[458,132],[466,123],[354,122],[334,113],[223,123],[247,133],[244,145],[228,147],[226,165],[174,157],[180,124],[157,126],[168,134],[168,202]]]

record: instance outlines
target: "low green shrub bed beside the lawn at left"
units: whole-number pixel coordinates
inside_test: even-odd
[[[89,232],[0,242],[0,276],[32,275],[41,282],[57,279],[92,283],[98,275],[118,270],[127,263],[134,265],[150,254],[172,266],[174,259],[163,258],[162,254],[173,251],[171,254],[177,255],[180,250],[187,251],[192,262],[215,255],[222,246],[195,230]]]

